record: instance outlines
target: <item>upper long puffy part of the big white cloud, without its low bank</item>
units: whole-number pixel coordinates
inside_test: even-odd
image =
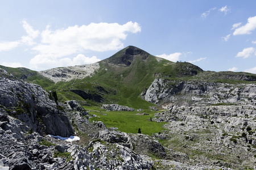
[[[104,52],[123,48],[121,40],[125,40],[127,32],[141,32],[138,23],[127,22],[118,23],[90,23],[79,27],[75,25],[67,29],[57,29],[51,31],[49,26],[41,34],[42,44],[34,48],[40,53],[47,49],[50,53],[59,53],[68,48],[73,52],[81,50],[93,50]]]

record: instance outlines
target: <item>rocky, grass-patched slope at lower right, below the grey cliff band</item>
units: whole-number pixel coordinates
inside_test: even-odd
[[[168,124],[163,126],[167,129],[165,132],[154,136],[168,141],[171,150],[167,150],[167,155],[177,162],[253,168],[256,160],[255,111],[255,105],[174,105],[167,111],[155,113],[153,121]],[[184,159],[182,154],[190,155],[189,159]]]

